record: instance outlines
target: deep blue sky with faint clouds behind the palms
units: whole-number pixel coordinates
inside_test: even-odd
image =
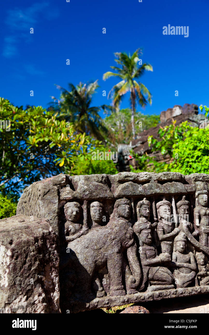
[[[59,97],[54,84],[67,88],[68,82],[98,79],[93,104],[109,104],[102,91],[108,93],[117,78],[103,81],[102,75],[116,65],[113,53],[141,47],[143,62],[153,66],[141,78],[153,103],[138,111],[159,114],[185,103],[209,105],[208,12],[208,0],[4,1],[0,96],[15,106],[45,108],[50,96]],[[163,35],[168,24],[189,26],[189,37]],[[127,96],[121,107],[128,104]]]

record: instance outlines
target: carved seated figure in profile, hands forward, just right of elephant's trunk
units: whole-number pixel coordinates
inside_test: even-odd
[[[173,288],[174,277],[170,270],[162,265],[170,260],[170,255],[166,252],[157,254],[157,249],[152,245],[151,224],[149,223],[147,227],[143,222],[141,227],[138,224],[137,234],[140,241],[139,253],[144,275],[143,284],[148,281],[152,290]]]

